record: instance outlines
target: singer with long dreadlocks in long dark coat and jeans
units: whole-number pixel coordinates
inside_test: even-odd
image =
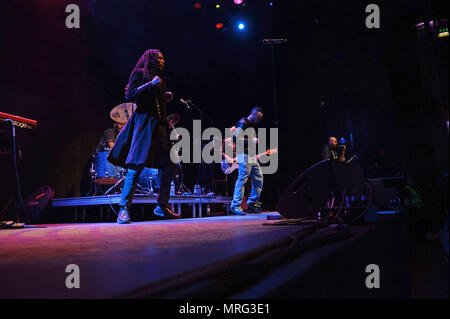
[[[168,204],[175,164],[170,160],[166,115],[166,102],[173,100],[173,94],[166,91],[166,85],[161,79],[164,63],[161,51],[145,51],[133,68],[125,87],[126,100],[136,103],[137,108],[117,136],[108,157],[112,164],[128,169],[119,203],[119,224],[130,222],[128,213],[144,167],[157,168],[162,172],[158,205],[154,213],[162,217],[179,217]]]

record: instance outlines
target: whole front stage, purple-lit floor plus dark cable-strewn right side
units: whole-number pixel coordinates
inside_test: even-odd
[[[268,216],[278,213],[3,229],[0,298],[407,297],[396,217],[333,228]],[[382,289],[365,286],[373,263]],[[66,287],[69,264],[80,288]]]

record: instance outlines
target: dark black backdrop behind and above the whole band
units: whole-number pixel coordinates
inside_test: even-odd
[[[66,5],[81,10],[81,28],[65,26]],[[320,160],[328,136],[349,139],[366,175],[380,149],[392,174],[416,181],[437,214],[448,184],[448,38],[414,25],[448,19],[447,1],[375,1],[381,28],[367,29],[369,1],[2,1],[0,111],[38,121],[19,132],[24,196],[50,185],[56,197],[85,194],[83,176],[110,110],[124,102],[124,86],[139,56],[159,48],[168,89],[196,103],[224,129],[254,106],[262,126],[274,127],[271,50],[263,38],[287,38],[276,47],[279,173],[283,191]],[[246,32],[236,23],[245,21]],[[447,20],[448,21],[448,20]],[[216,23],[225,24],[217,30]],[[448,26],[448,24],[446,25]],[[192,119],[179,102],[180,126]],[[203,121],[203,127],[209,126]],[[9,145],[7,126],[0,128]],[[18,129],[19,131],[19,129]],[[14,194],[10,158],[2,156],[2,205]],[[185,184],[199,166],[185,165]],[[392,175],[391,174],[391,175]],[[217,175],[217,172],[216,172]],[[217,176],[220,177],[220,176]],[[263,200],[273,208],[276,176],[265,176]],[[11,194],[11,195],[8,195]],[[5,199],[6,198],[6,199]]]

